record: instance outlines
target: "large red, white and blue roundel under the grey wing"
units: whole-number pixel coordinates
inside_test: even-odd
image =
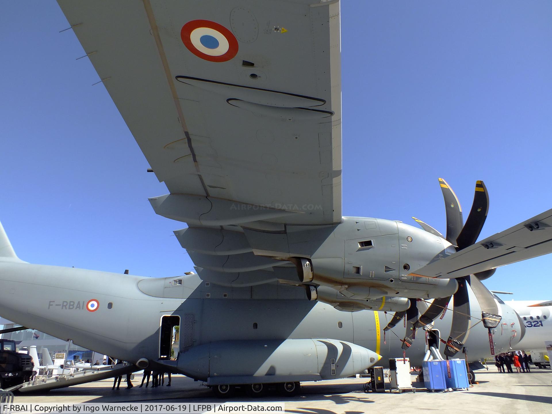
[[[195,56],[210,62],[226,62],[236,56],[238,41],[224,26],[210,20],[192,20],[182,26],[182,42]]]

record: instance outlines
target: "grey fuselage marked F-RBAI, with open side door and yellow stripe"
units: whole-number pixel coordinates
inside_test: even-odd
[[[182,284],[173,283],[182,280]],[[94,311],[87,309],[97,300]],[[469,361],[490,356],[489,336],[477,300],[470,290],[471,328],[464,343]],[[502,325],[492,330],[495,352],[507,351],[524,334],[511,307],[500,305]],[[185,363],[190,350],[220,341],[284,341],[328,338],[346,341],[388,358],[402,357],[405,327],[383,328],[392,314],[363,310],[343,312],[306,299],[298,286],[268,283],[229,288],[190,274],[143,278],[76,268],[20,263],[0,258],[0,314],[23,326],[72,339],[79,346],[136,363],[146,358],[155,369],[160,358],[163,315],[181,317],[178,365],[159,369],[205,380]],[[452,311],[434,322],[442,338],[450,332]],[[376,329],[379,326],[379,329]],[[250,342],[240,342],[247,344]],[[412,365],[421,365],[426,349],[423,330],[407,351]],[[176,357],[177,355],[175,355]],[[181,363],[184,362],[184,363]]]

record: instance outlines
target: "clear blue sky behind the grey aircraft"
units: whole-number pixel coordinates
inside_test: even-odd
[[[445,231],[483,179],[490,236],[552,207],[552,2],[342,3],[343,214]],[[148,276],[192,269],[147,198],[167,192],[52,1],[2,2],[0,220],[33,263]],[[552,299],[552,256],[490,289]],[[509,296],[507,299],[511,298]]]

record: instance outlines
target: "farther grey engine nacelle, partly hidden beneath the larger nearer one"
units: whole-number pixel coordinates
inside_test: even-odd
[[[351,299],[341,292],[327,286],[306,286],[307,299],[318,300],[332,305],[337,310],[357,312],[360,310],[380,310],[385,312],[405,311],[410,307],[410,300],[396,296],[383,296],[379,299]]]

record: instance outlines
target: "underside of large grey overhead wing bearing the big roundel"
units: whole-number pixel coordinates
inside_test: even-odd
[[[167,185],[153,209],[188,224],[175,233],[200,273],[296,280],[244,229],[342,220],[339,3],[59,4]]]

